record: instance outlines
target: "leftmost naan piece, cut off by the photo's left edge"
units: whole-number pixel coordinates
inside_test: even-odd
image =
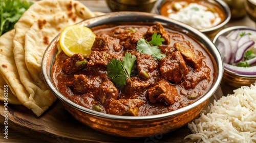
[[[15,89],[22,89],[20,86],[22,87],[23,85],[20,84],[12,52],[14,33],[14,30],[11,30],[0,37],[0,100],[5,101],[5,90],[8,89],[8,104],[21,104],[16,97],[15,91]],[[20,92],[18,91],[18,93]],[[19,96],[24,96],[23,91]]]

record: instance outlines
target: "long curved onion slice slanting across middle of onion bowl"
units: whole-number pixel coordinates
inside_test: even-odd
[[[240,47],[238,47],[238,50],[236,52],[236,55],[234,56],[234,61],[233,63],[238,63],[243,59],[244,53],[249,47],[251,47],[254,44],[253,40],[249,40],[242,44]]]

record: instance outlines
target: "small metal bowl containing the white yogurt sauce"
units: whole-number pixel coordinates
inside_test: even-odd
[[[161,14],[161,7],[169,1],[173,1],[173,0],[158,0],[157,3],[154,6],[154,12],[157,13],[157,14],[162,15]],[[184,0],[184,1],[186,1],[186,0]],[[211,28],[207,28],[207,29],[201,29],[201,30],[199,29],[199,31],[203,32],[209,38],[212,39],[228,23],[228,21],[231,18],[231,12],[230,12],[230,9],[229,9],[228,5],[223,1],[220,1],[220,0],[215,0],[215,1],[206,0],[206,1],[208,3],[211,3],[211,4],[214,4],[214,5],[218,6],[220,9],[223,10],[223,12],[224,12],[223,14],[225,15],[224,20],[221,23],[219,23],[219,25],[211,27]]]

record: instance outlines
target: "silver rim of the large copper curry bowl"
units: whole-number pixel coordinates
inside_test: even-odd
[[[222,77],[223,77],[223,63],[222,63],[222,59],[221,59],[221,55],[219,53],[219,51],[217,50],[217,47],[215,46],[214,43],[212,43],[212,41],[203,33],[201,33],[200,31],[198,31],[195,28],[192,28],[188,25],[185,25],[182,22],[167,18],[165,16],[161,16],[158,14],[153,14],[153,13],[147,13],[147,12],[110,12],[110,13],[106,13],[105,15],[101,15],[101,16],[97,16],[97,17],[93,17],[93,18],[89,18],[86,20],[83,20],[79,23],[76,24],[80,24],[83,26],[87,26],[90,25],[91,27],[94,27],[95,25],[100,25],[99,23],[102,21],[108,21],[111,22],[111,20],[117,20],[117,19],[121,19],[120,17],[126,17],[126,16],[130,16],[130,17],[135,17],[138,18],[140,16],[143,16],[145,18],[152,18],[154,19],[154,21],[161,21],[161,22],[166,22],[169,24],[172,24],[174,26],[179,26],[179,28],[183,29],[183,33],[189,33],[190,34],[194,34],[194,35],[198,35],[199,37],[201,37],[200,40],[202,40],[203,42],[205,42],[205,44],[208,44],[208,46],[212,47],[211,49],[205,49],[205,50],[211,50],[212,53],[216,54],[216,67],[217,67],[217,73],[216,74],[216,79],[215,81],[212,82],[212,86],[211,88],[204,94],[204,96],[202,98],[200,98],[199,100],[197,100],[196,102],[194,102],[193,104],[190,104],[186,107],[182,107],[180,109],[174,110],[174,111],[170,111],[167,113],[163,113],[163,114],[156,114],[156,115],[148,115],[148,116],[120,116],[120,115],[112,115],[112,114],[106,114],[106,113],[101,113],[101,112],[97,112],[91,109],[88,109],[86,107],[83,107],[81,105],[78,105],[74,102],[72,102],[71,100],[69,100],[68,98],[66,98],[65,96],[63,96],[63,94],[61,94],[57,88],[54,86],[54,84],[52,83],[52,79],[51,76],[48,77],[48,74],[50,73],[51,75],[51,69],[47,68],[47,62],[49,62],[48,60],[48,56],[49,54],[52,52],[53,47],[57,46],[57,41],[59,39],[60,34],[58,34],[49,44],[49,46],[47,47],[44,56],[42,58],[42,62],[41,62],[41,69],[42,69],[42,76],[47,84],[47,86],[49,87],[49,89],[55,94],[55,96],[58,97],[59,100],[61,100],[63,103],[79,110],[82,112],[86,112],[88,114],[94,115],[94,116],[98,116],[98,117],[103,117],[103,118],[109,118],[112,120],[121,120],[121,121],[125,121],[125,120],[130,120],[130,121],[139,121],[139,120],[157,120],[159,118],[166,118],[169,116],[174,116],[180,113],[183,113],[185,111],[188,111],[190,108],[195,108],[198,105],[202,104],[203,102],[205,102],[206,100],[208,100],[214,93],[215,91],[219,88],[219,85],[221,83]],[[141,20],[141,19],[138,19]],[[160,23],[161,23],[160,22]],[[90,28],[90,27],[89,27]],[[202,42],[200,41],[200,42]],[[55,47],[56,49],[56,47]],[[53,62],[55,61],[55,55],[56,52],[54,54],[53,59],[50,59],[51,64],[53,64]],[[213,55],[212,55],[213,56]],[[214,60],[214,59],[212,59]],[[52,66],[50,66],[51,68]]]

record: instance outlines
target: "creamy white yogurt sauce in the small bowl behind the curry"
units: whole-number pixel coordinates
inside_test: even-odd
[[[221,18],[218,13],[209,11],[207,7],[196,3],[190,3],[189,5],[181,8],[179,3],[175,4],[175,7],[179,9],[177,13],[171,13],[168,17],[186,23],[196,29],[206,29],[218,25],[221,22]],[[169,11],[168,13],[170,13]]]

